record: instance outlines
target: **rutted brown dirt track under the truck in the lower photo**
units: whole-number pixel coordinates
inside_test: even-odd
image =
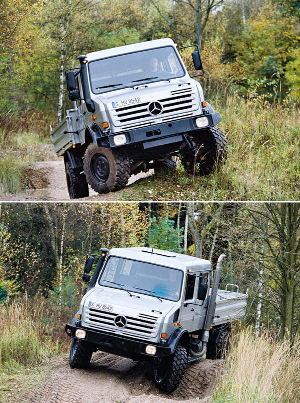
[[[68,358],[55,359],[34,390],[10,402],[32,403],[169,403],[206,402],[211,396],[221,360],[201,359],[188,364],[175,392],[165,395],[145,376],[146,363],[103,352],[93,354],[88,369],[71,369]]]

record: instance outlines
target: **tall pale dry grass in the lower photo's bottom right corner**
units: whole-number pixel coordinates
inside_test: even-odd
[[[256,337],[250,328],[232,342],[213,403],[300,401],[300,343]]]

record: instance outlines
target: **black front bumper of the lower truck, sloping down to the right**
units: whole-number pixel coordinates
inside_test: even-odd
[[[86,332],[84,339],[78,339],[75,336],[76,329],[83,329]],[[64,331],[68,336],[72,338],[77,338],[78,340],[88,341],[89,343],[95,344],[96,348],[101,351],[109,352],[111,354],[121,355],[124,357],[129,357],[132,359],[147,360],[153,357],[164,357],[170,355],[171,348],[161,346],[158,343],[151,343],[145,341],[138,341],[126,337],[120,337],[105,332],[99,332],[96,330],[91,330],[82,326],[73,326],[66,324]],[[154,355],[149,355],[145,352],[147,345],[154,345],[156,347],[156,353]]]

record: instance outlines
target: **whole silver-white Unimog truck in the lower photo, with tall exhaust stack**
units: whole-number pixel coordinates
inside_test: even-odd
[[[208,260],[150,248],[107,252],[101,249],[91,281],[95,255],[87,255],[89,287],[65,326],[72,368],[87,367],[96,350],[148,360],[158,389],[171,393],[187,362],[223,356],[230,323],[244,315],[248,298],[248,291],[218,289],[224,255],[210,286]]]

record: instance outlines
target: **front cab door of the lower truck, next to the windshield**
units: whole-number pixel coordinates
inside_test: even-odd
[[[196,276],[193,274],[186,274],[180,323],[188,332],[191,331],[195,312],[195,284]]]

